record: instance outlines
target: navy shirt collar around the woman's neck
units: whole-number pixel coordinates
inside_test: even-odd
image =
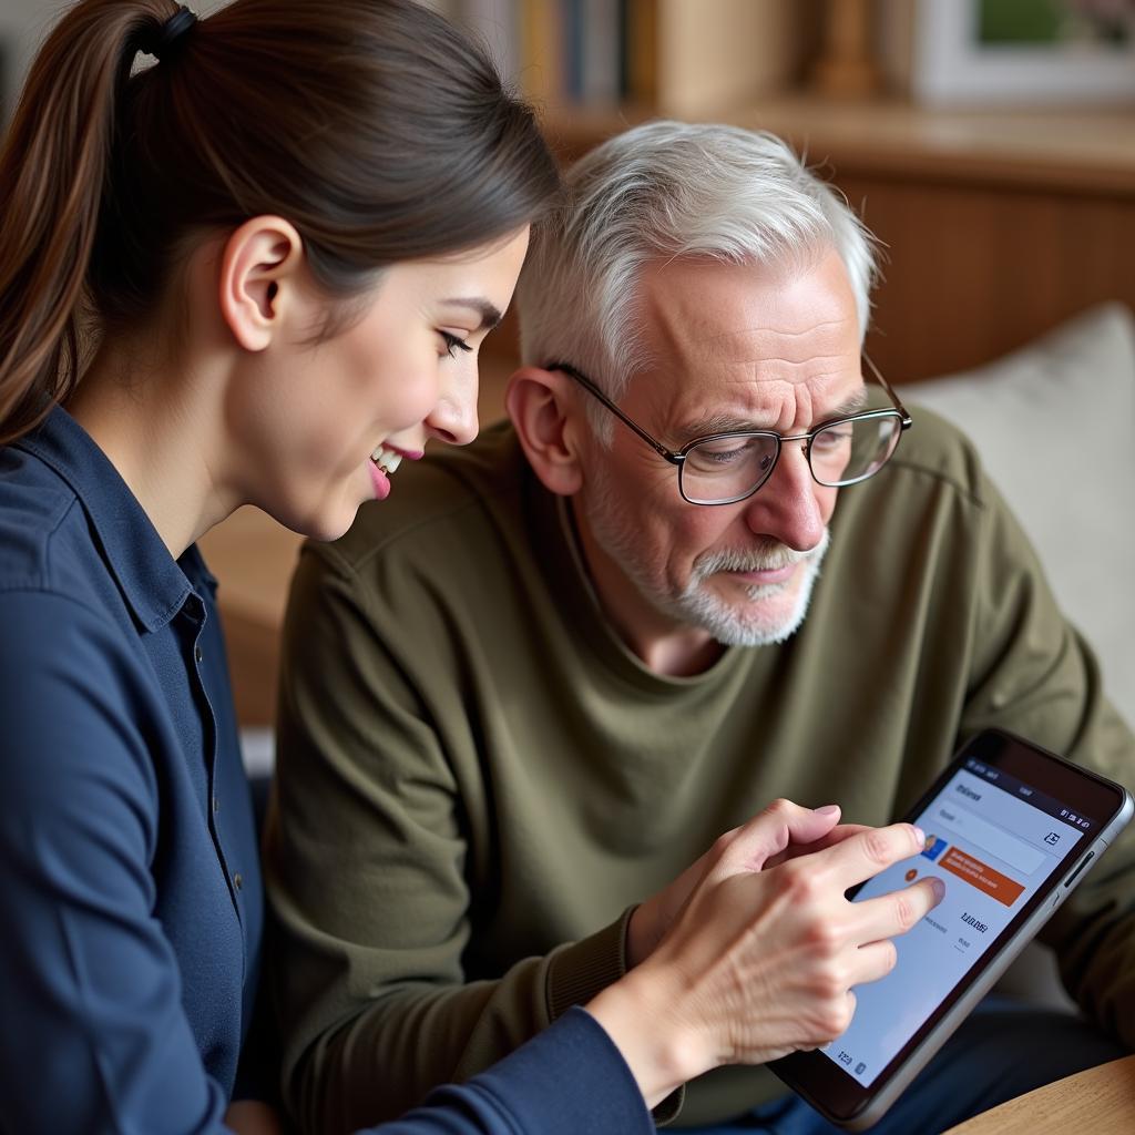
[[[216,590],[196,546],[174,560],[110,459],[61,406],[17,445],[54,470],[78,497],[123,596],[145,630],[165,627],[191,592]]]

